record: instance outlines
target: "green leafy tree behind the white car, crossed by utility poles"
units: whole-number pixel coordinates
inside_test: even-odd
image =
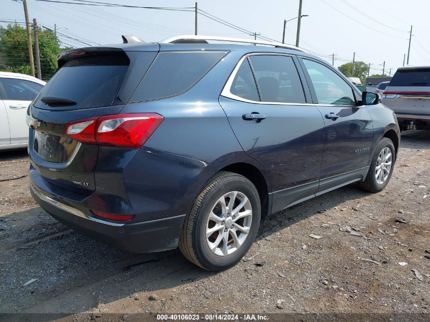
[[[38,35],[42,79],[48,80],[58,67],[56,56],[66,48],[60,47],[59,39],[51,30],[42,30],[38,27]],[[32,40],[33,55],[36,60],[34,37]],[[28,56],[25,27],[12,24],[6,28],[0,26],[0,57],[3,57],[5,61],[4,66],[0,65],[0,70],[30,75],[30,57]]]

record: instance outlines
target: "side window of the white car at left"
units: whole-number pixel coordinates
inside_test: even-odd
[[[43,87],[33,81],[17,78],[0,78],[0,85],[3,87],[4,100],[17,101],[33,101]]]

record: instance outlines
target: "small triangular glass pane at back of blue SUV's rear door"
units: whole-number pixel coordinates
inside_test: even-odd
[[[245,59],[233,80],[230,93],[251,101],[260,101],[259,92],[255,85],[249,62]]]

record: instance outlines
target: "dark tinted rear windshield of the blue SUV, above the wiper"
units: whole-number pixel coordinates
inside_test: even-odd
[[[69,104],[70,109],[110,106],[124,80],[128,64],[125,54],[75,58],[54,74],[34,105],[50,109],[41,100],[51,97],[74,101],[75,104]]]

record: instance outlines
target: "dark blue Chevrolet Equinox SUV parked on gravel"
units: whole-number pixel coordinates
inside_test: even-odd
[[[27,112],[33,197],[92,238],[219,271],[270,214],[353,182],[383,190],[400,131],[379,95],[300,48],[252,44],[124,37],[60,54]]]

